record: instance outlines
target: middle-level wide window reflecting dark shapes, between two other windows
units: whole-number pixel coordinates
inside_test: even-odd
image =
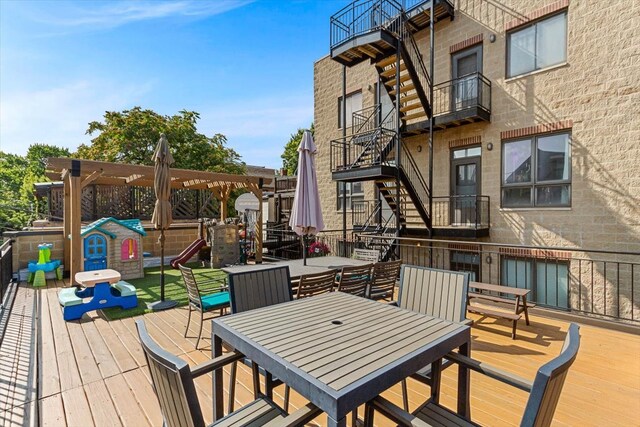
[[[568,133],[503,143],[503,207],[570,205],[571,138]]]

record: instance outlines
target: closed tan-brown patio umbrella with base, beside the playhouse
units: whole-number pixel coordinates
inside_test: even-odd
[[[164,299],[164,230],[171,225],[171,171],[169,166],[173,164],[173,156],[169,151],[169,142],[164,134],[160,135],[160,140],[153,153],[154,177],[153,190],[156,193],[156,206],[153,209],[153,217],[151,222],[156,230],[160,230],[160,301],[149,304],[149,308],[157,310],[165,310],[175,307],[176,301]]]

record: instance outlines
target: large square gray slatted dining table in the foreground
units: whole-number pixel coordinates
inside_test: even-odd
[[[329,426],[449,351],[470,355],[470,328],[342,292],[213,320],[213,356],[228,343],[322,409]],[[434,365],[438,366],[438,365]],[[222,371],[213,378],[222,416]],[[469,372],[458,371],[458,412],[468,416]]]

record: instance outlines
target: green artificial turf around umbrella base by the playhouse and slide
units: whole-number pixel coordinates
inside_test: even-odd
[[[222,270],[211,268],[198,268],[197,265],[190,265],[193,274],[199,283],[211,282],[214,279],[223,279],[226,273]],[[187,304],[187,289],[184,287],[180,270],[166,266],[164,269],[164,298],[178,302],[178,306]],[[160,267],[145,268],[144,277],[140,279],[129,279],[137,289],[138,306],[128,310],[120,307],[105,308],[102,310],[109,320],[123,319],[126,317],[138,316],[149,313],[147,303],[160,300]]]

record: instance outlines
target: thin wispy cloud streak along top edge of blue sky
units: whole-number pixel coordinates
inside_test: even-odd
[[[115,28],[133,22],[171,16],[209,17],[245,6],[254,0],[56,2],[49,10],[32,10],[32,19],[57,27]],[[81,5],[81,6],[79,6]]]

